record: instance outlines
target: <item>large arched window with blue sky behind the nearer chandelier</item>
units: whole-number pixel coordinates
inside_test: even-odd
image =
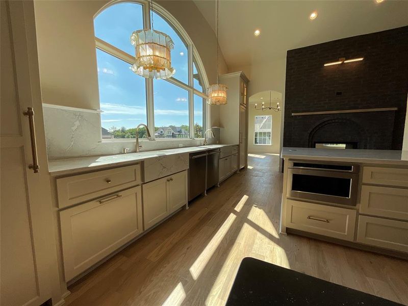
[[[130,36],[150,27],[144,16],[150,16],[148,2],[120,2],[94,18],[101,126],[121,139],[135,138],[139,123],[147,123],[156,139],[202,138],[210,115],[207,77],[187,33],[158,5],[154,5],[154,29],[173,40],[171,61],[176,73],[170,79],[150,80],[130,69],[135,61]],[[139,133],[143,136],[145,131]]]

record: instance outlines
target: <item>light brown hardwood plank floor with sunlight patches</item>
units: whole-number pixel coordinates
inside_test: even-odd
[[[278,157],[234,174],[68,289],[68,305],[223,305],[244,257],[408,305],[408,262],[279,235]]]

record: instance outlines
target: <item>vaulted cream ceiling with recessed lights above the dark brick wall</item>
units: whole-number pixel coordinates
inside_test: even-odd
[[[216,2],[193,0],[213,30]],[[310,20],[316,11],[318,16]],[[219,1],[219,44],[228,67],[262,63],[287,50],[408,25],[408,1]],[[260,29],[261,35],[253,35]]]

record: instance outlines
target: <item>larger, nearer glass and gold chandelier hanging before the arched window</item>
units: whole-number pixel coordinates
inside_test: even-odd
[[[171,78],[175,69],[171,67],[170,50],[174,43],[167,34],[153,29],[153,2],[150,1],[151,29],[134,31],[131,43],[135,46],[136,62],[132,71],[148,79]]]

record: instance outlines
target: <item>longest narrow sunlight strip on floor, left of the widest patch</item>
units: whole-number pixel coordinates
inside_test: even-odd
[[[213,256],[215,250],[217,249],[218,245],[224,238],[225,234],[228,232],[228,230],[230,230],[230,227],[233,224],[236,217],[237,216],[234,215],[233,213],[231,213],[228,216],[228,218],[221,225],[217,233],[211,239],[209,244],[207,244],[206,248],[201,252],[201,254],[195,260],[194,264],[190,267],[190,274],[193,277],[194,281],[197,280],[202,270],[206,267],[207,263]]]

